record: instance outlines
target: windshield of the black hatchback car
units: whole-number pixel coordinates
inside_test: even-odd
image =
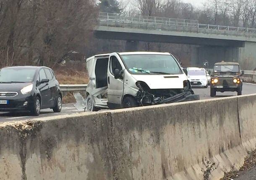
[[[30,83],[34,79],[36,69],[32,68],[2,68],[0,83]]]

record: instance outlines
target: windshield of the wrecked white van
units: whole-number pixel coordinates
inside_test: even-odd
[[[121,57],[131,74],[182,74],[170,55],[132,54]]]

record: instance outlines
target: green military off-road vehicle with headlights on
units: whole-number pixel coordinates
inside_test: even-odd
[[[216,92],[232,91],[242,95],[243,81],[240,73],[239,63],[225,62],[215,63],[211,79],[211,97],[216,96]]]

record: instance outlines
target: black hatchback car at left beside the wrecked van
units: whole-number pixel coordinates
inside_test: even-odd
[[[40,109],[60,112],[62,94],[52,69],[15,66],[0,69],[0,112],[26,111],[39,115]]]

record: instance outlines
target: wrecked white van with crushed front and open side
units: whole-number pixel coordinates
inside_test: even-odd
[[[86,111],[199,100],[170,53],[129,52],[86,59]]]

